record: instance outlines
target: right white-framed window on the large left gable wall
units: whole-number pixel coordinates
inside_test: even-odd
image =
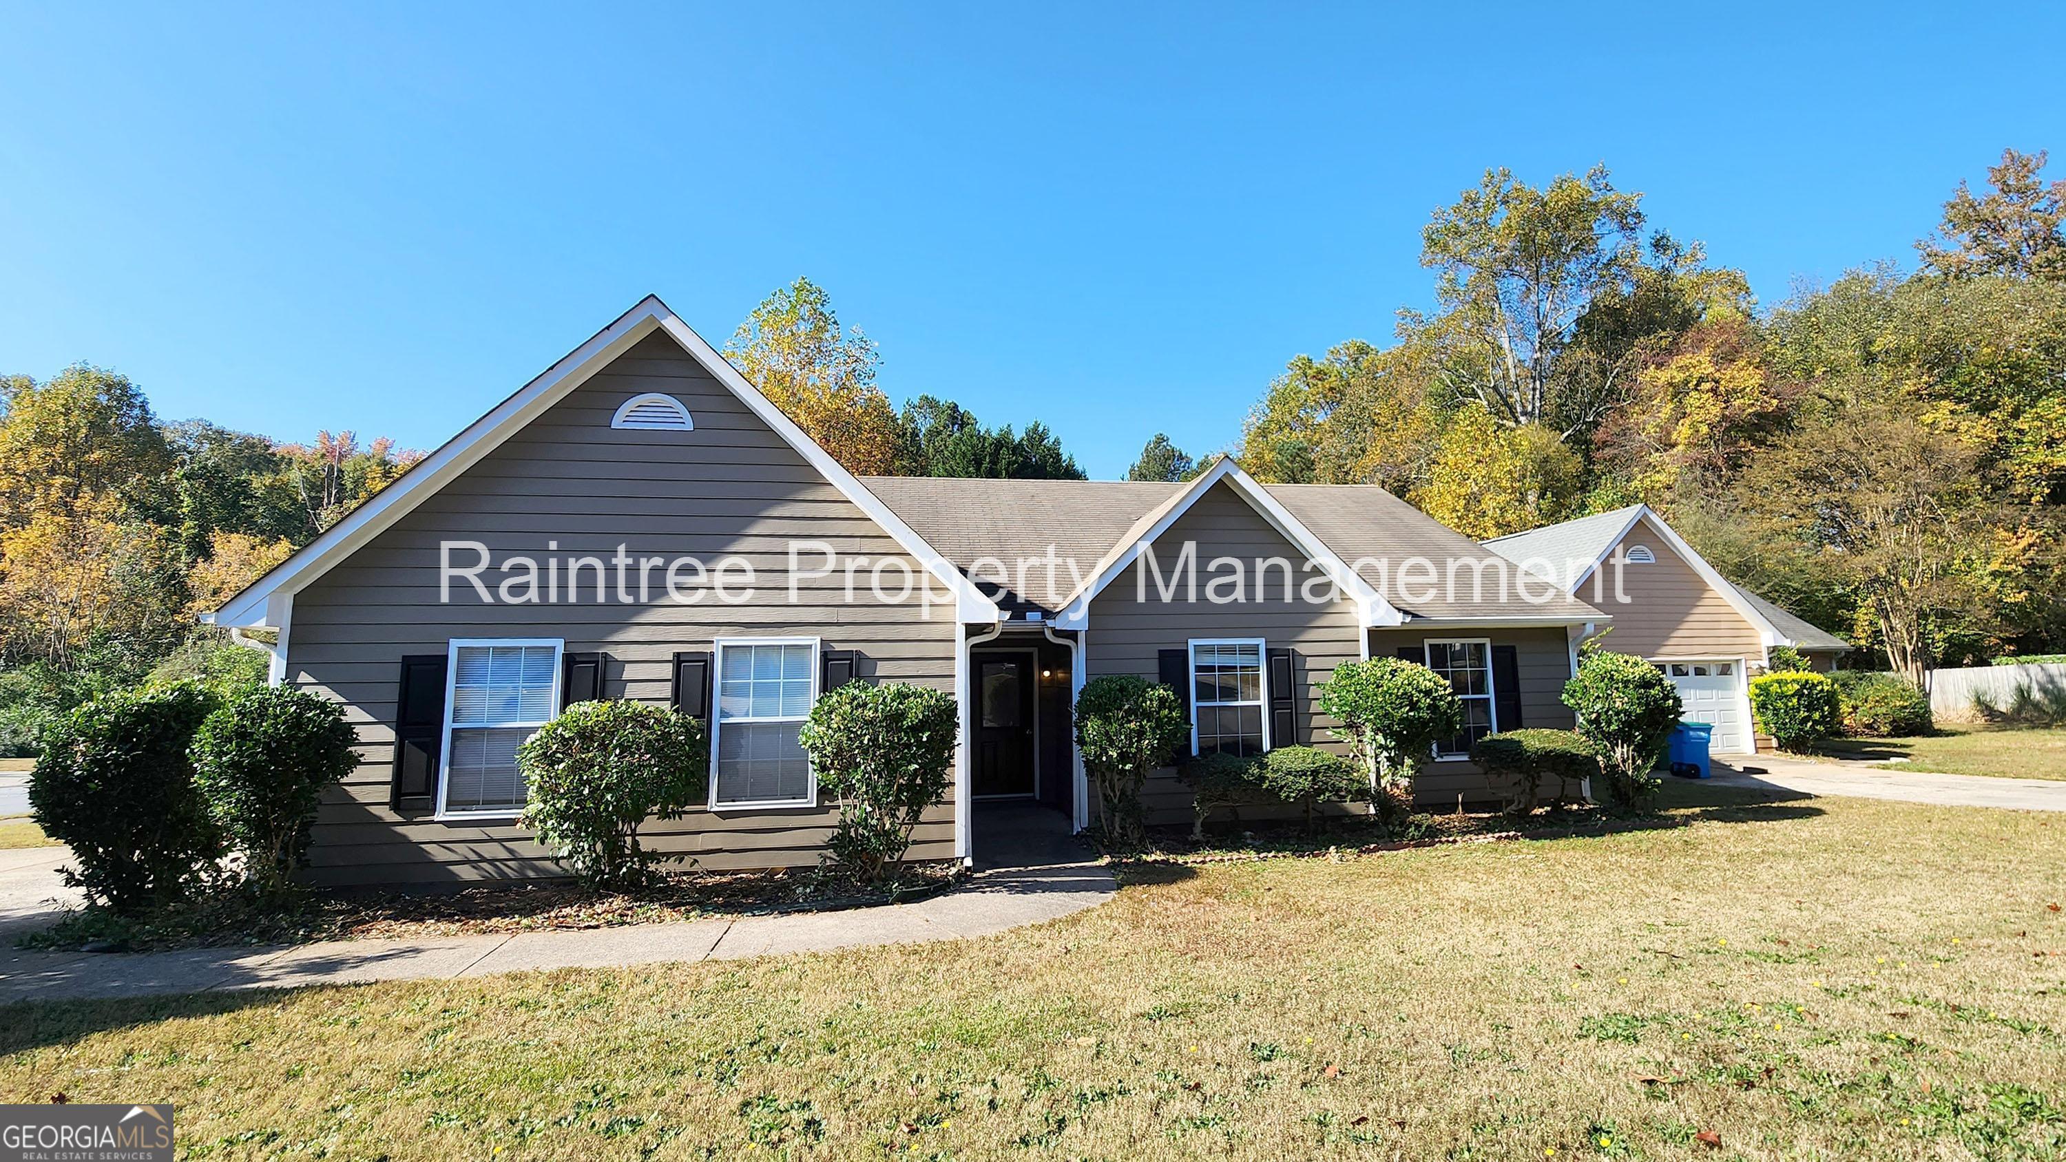
[[[818,698],[816,638],[719,638],[711,809],[810,807],[818,776],[797,731]]]

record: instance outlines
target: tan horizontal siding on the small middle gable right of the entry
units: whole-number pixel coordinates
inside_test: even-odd
[[[1361,656],[1355,605],[1347,599],[1331,605],[1297,601],[1297,582],[1306,578],[1302,572],[1293,572],[1293,596],[1287,603],[1283,601],[1281,570],[1271,570],[1264,601],[1240,605],[1207,601],[1204,582],[1215,576],[1209,570],[1213,557],[1242,559],[1250,584],[1254,582],[1256,557],[1285,557],[1293,566],[1304,561],[1304,553],[1229,485],[1215,485],[1157,539],[1163,578],[1176,570],[1176,555],[1186,541],[1198,545],[1196,601],[1186,601],[1186,592],[1180,588],[1173,601],[1163,603],[1153,572],[1147,580],[1147,601],[1140,601],[1138,572],[1142,563],[1134,563],[1091,601],[1085,675],[1132,673],[1157,681],[1161,650],[1186,648],[1192,638],[1264,638],[1264,648],[1289,646],[1295,650],[1300,681],[1300,737],[1273,739],[1273,743],[1295,741],[1345,753],[1345,747],[1328,731],[1335,722],[1320,714],[1316,700],[1318,685],[1335,673],[1339,663]],[[1264,706],[1266,712],[1269,706]],[[1151,774],[1140,803],[1151,824],[1180,824],[1190,819],[1192,811],[1190,788],[1176,776],[1176,768]],[[1281,811],[1244,809],[1242,817],[1273,813]]]

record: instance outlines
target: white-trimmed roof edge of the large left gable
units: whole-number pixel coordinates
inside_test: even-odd
[[[800,429],[795,421],[769,402],[758,388],[748,384],[746,378],[717,353],[717,349],[696,334],[694,328],[682,322],[680,316],[676,316],[667,303],[659,301],[657,295],[647,295],[632,310],[618,316],[616,322],[589,336],[587,343],[568,351],[558,363],[490,409],[488,415],[469,423],[459,435],[446,440],[436,452],[417,460],[393,485],[368,497],[366,504],[351,510],[343,520],[225,601],[215,613],[205,615],[205,619],[231,627],[283,627],[289,617],[285,603],[291,601],[293,592],[306,588],[310,582],[355,553],[368,541],[407,516],[417,504],[436,495],[438,489],[477,464],[504,440],[521,431],[552,405],[566,398],[568,392],[607,367],[618,355],[653,332],[665,332],[674,338],[692,359],[702,363],[702,367],[719,384],[731,390],[740,402],[760,417],[762,423],[775,429],[783,442],[795,448],[818,471],[818,475],[831,481],[833,487],[859,506],[862,512],[880,524],[882,530],[888,532],[907,553],[926,566],[928,572],[940,578],[940,582],[954,592],[954,607],[963,621],[996,621],[998,607],[994,601],[983,596],[983,592],[971,584],[959,568],[940,555],[938,549],[928,545],[926,539],[905,524],[895,510],[870,493],[868,487],[853,477],[853,473],[843,469],[824,448],[804,435],[804,429]]]

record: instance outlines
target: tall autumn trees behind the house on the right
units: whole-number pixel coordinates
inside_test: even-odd
[[[1436,310],[1300,355],[1231,448],[1485,539],[1628,504],[1723,574],[1928,667],[2066,646],[2066,182],[2004,151],[1913,270],[1762,310],[1603,167],[1494,169],[1421,231]],[[1157,435],[1134,479],[1184,479]]]

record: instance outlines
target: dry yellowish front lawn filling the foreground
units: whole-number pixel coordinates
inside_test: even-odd
[[[171,1100],[209,1158],[2066,1152],[2066,817],[1700,815],[971,943],[8,1009],[0,1100]]]

